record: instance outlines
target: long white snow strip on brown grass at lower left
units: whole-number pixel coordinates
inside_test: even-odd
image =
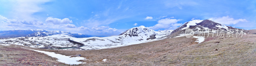
[[[20,48],[23,48],[23,47],[20,47]],[[28,49],[28,48],[24,48],[24,49]],[[33,49],[29,49],[29,50],[33,50]],[[72,64],[82,64],[82,62],[78,62],[78,61],[86,59],[84,57],[65,56],[65,55],[61,55],[61,54],[56,54],[54,52],[38,51],[38,50],[33,50],[33,51],[41,52],[41,53],[44,53],[48,56],[58,58],[57,61],[62,62],[62,63],[66,63],[66,64],[71,64],[71,65]]]

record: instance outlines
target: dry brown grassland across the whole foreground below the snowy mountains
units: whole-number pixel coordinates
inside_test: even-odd
[[[197,44],[195,38],[177,37],[137,45],[128,45],[110,49],[68,51],[30,48],[55,52],[66,56],[76,54],[88,60],[84,65],[256,65],[256,35],[247,34],[243,38],[208,37]],[[19,45],[0,45],[0,65],[67,65],[56,61],[44,53],[23,49]],[[24,60],[24,61],[23,61]],[[28,63],[29,62],[29,63]]]

